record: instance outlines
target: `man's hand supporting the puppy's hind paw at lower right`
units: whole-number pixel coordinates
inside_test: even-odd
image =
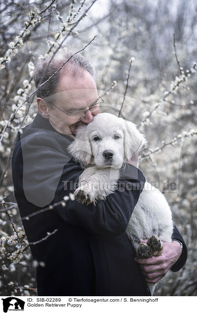
[[[181,255],[181,245],[177,241],[170,243],[162,241],[162,244],[164,251],[160,256],[148,259],[135,257],[135,262],[140,264],[142,273],[148,283],[156,283],[164,277]]]

